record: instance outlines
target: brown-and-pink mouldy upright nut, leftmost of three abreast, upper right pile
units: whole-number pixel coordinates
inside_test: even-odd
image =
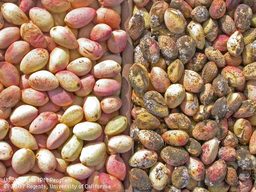
[[[150,62],[156,63],[159,60],[159,46],[153,37],[146,35],[139,42],[139,47],[143,53],[143,56]]]

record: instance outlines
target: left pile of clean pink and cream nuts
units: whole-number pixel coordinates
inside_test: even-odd
[[[0,191],[131,191],[131,1],[0,8]]]

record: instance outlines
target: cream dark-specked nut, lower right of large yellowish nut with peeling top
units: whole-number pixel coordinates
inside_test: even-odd
[[[187,33],[195,42],[197,49],[202,50],[205,45],[204,30],[200,23],[191,21],[187,26]]]

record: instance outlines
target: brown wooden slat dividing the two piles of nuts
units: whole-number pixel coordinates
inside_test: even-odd
[[[132,17],[132,9],[133,9],[133,2],[132,0],[124,0],[122,3],[122,23],[121,28],[122,30],[126,31],[127,23],[129,22],[130,18]],[[127,35],[128,36],[128,35]],[[127,118],[128,126],[126,130],[123,132],[125,135],[130,135],[130,126],[132,121],[132,87],[129,84],[128,80],[128,73],[129,69],[133,64],[133,44],[130,37],[127,37],[127,45],[125,50],[122,53],[122,91],[121,91],[121,99],[123,105],[120,109],[120,114]],[[129,165],[129,159],[132,155],[132,151],[122,153],[122,158],[126,164],[126,177],[124,179],[124,190],[125,192],[132,192],[132,186],[130,185],[129,181],[129,171],[131,167]]]

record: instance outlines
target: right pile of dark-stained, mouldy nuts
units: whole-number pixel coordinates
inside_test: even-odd
[[[255,191],[256,2],[133,4],[133,189]]]

